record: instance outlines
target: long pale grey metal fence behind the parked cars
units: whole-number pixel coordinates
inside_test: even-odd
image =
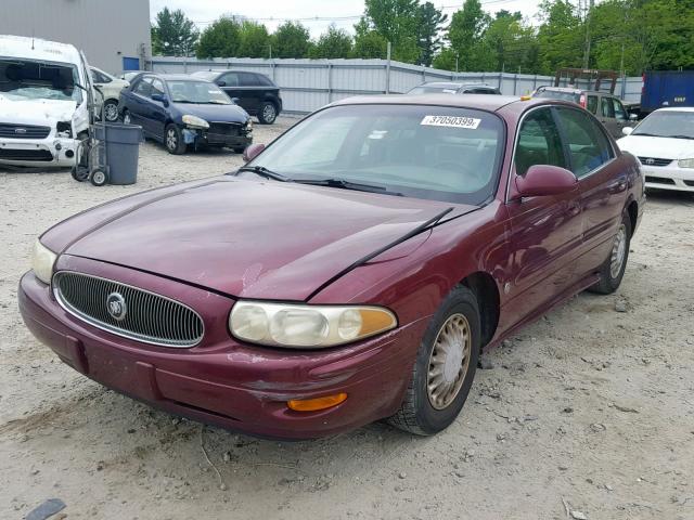
[[[499,87],[506,95],[529,94],[554,77],[504,73],[451,73],[385,60],[260,60],[154,56],[152,70],[184,73],[209,69],[233,69],[261,73],[281,89],[285,112],[306,114],[343,98],[352,95],[402,93],[425,81],[462,80],[486,82]],[[389,73],[389,74],[388,74]],[[619,81],[615,93],[626,101],[641,99],[639,78]],[[579,82],[579,86],[580,82]]]

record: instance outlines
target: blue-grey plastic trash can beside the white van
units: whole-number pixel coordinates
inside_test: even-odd
[[[121,122],[98,122],[94,125],[94,131],[97,139],[101,141],[99,161],[108,166],[108,183],[134,184],[138,181],[142,127]]]

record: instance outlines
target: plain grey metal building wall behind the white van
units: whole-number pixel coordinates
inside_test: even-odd
[[[0,34],[72,43],[119,74],[124,56],[151,55],[150,0],[0,0]]]

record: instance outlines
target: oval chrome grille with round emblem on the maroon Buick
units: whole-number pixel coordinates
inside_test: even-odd
[[[125,338],[179,348],[193,347],[203,339],[203,320],[191,308],[130,285],[61,271],[53,277],[53,292],[74,316]],[[127,304],[125,315],[118,318],[107,304],[114,294]]]

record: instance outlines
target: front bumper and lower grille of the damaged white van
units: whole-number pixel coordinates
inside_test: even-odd
[[[78,147],[79,140],[50,135],[46,139],[0,139],[0,164],[66,168],[75,165]]]

